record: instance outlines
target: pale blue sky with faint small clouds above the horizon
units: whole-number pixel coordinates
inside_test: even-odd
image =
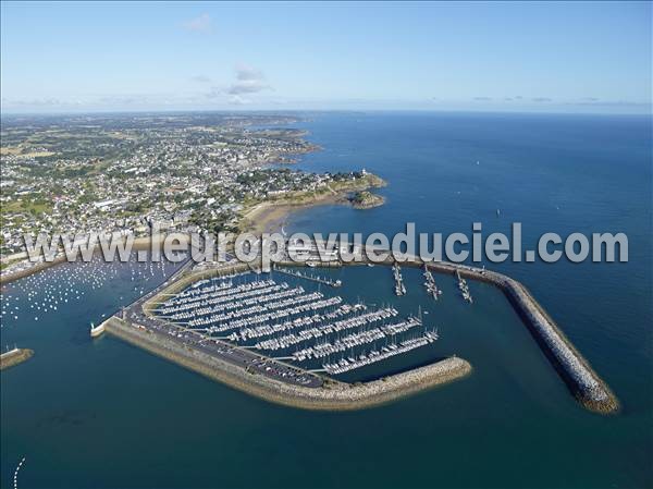
[[[3,112],[651,112],[650,2],[2,2]]]

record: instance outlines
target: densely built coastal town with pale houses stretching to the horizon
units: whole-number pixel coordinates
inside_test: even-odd
[[[3,265],[24,252],[25,234],[145,236],[153,222],[161,230],[237,232],[257,204],[336,193],[355,181],[368,186],[365,170],[292,170],[298,155],[319,149],[305,132],[287,129],[296,122],[214,113],[8,118]]]

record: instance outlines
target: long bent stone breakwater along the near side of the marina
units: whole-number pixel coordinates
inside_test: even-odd
[[[274,380],[199,350],[186,347],[162,334],[131,326],[116,317],[104,321],[106,331],[123,341],[167,358],[208,378],[269,402],[319,411],[354,411],[397,401],[460,379],[471,372],[468,362],[449,357],[406,372],[362,383],[325,378],[320,387]]]

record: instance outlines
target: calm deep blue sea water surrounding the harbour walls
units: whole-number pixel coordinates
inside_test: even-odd
[[[387,369],[458,354],[475,372],[401,403],[330,414],[271,405],[118,340],[88,339],[90,320],[172,267],[122,265],[89,273],[96,282],[57,268],[4,291],[19,319],[5,315],[2,344],[36,355],[0,377],[1,486],[23,456],[20,487],[652,486],[650,120],[352,113],[304,125],[324,150],[301,168],[365,167],[390,185],[382,208],[313,208],[293,216],[292,230],[394,233],[414,221],[447,233],[481,221],[489,233],[520,221],[525,246],[546,231],[626,232],[629,264],[493,265],[535,294],[623,412],[580,408],[489,286],[472,283],[468,307],[449,277],[436,276],[444,295],[435,304],[417,271],[407,270],[402,299],[386,269],[333,271],[348,301],[393,302],[404,314],[421,305],[440,328],[431,350]],[[53,288],[69,281],[85,295],[35,320],[28,291],[62,296]]]

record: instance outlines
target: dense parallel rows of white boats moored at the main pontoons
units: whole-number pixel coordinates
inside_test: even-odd
[[[284,271],[307,279],[300,271]],[[276,359],[312,364],[312,370],[332,375],[438,340],[436,328],[424,326],[421,314],[397,318],[393,307],[348,304],[340,295],[251,272],[204,279],[169,296],[152,313],[202,341],[218,339],[246,350],[279,352]]]

